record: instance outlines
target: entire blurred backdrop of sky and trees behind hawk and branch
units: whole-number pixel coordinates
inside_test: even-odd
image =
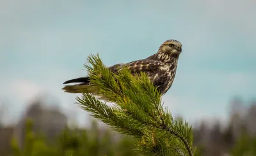
[[[255,6],[0,1],[0,155],[136,155],[130,138],[92,120],[62,83],[86,75],[91,53],[127,63],[168,39],[183,51],[164,105],[193,126],[202,155],[256,155]]]

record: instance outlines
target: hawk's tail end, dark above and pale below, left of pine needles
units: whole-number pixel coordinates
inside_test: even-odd
[[[62,90],[67,93],[97,93],[97,88],[90,85],[89,77],[79,77],[77,79],[71,79],[63,84],[78,83],[74,85],[66,85]]]

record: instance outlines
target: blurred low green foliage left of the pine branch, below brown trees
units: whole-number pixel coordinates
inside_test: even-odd
[[[120,137],[113,140],[112,134],[106,130],[100,137],[97,123],[91,130],[65,129],[54,143],[33,132],[33,121],[26,122],[26,138],[20,148],[17,139],[13,137],[12,148],[14,156],[136,156],[132,150],[134,143],[131,139]]]

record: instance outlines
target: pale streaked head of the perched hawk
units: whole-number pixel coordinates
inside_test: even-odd
[[[159,52],[169,56],[179,56],[182,52],[182,44],[177,40],[167,40],[159,47]]]

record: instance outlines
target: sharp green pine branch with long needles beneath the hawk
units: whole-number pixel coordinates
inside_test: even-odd
[[[111,129],[134,137],[144,155],[194,155],[191,127],[182,118],[175,120],[163,108],[161,95],[146,74],[132,76],[124,68],[111,72],[99,55],[88,57],[90,82],[115,105],[108,105],[91,93],[77,97],[77,104]],[[140,76],[139,76],[140,75]]]

